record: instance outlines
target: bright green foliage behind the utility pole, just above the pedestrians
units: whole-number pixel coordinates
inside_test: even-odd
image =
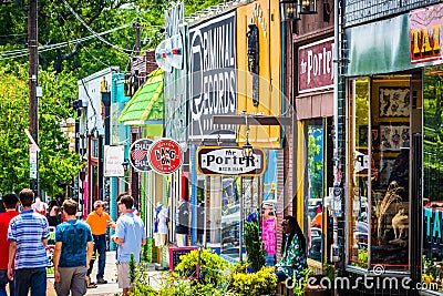
[[[27,67],[11,63],[0,69],[0,193],[29,187],[29,91]],[[42,71],[43,96],[39,101],[40,188],[50,195],[63,194],[61,183],[70,184],[82,163],[69,151],[60,122],[72,116],[71,100],[75,81],[71,75]]]

